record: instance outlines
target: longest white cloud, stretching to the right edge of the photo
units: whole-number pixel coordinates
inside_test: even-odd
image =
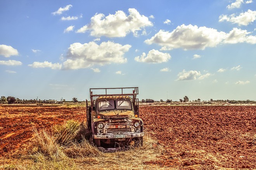
[[[218,32],[216,29],[207,27],[197,27],[191,24],[184,24],[176,27],[172,32],[160,30],[150,39],[145,40],[147,44],[156,43],[162,46],[161,50],[171,50],[175,48],[205,49],[215,47],[220,43],[247,42],[256,44],[256,36],[248,36],[251,32],[234,28],[229,33]]]

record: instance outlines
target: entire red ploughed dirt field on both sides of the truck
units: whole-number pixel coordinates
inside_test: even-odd
[[[146,133],[166,152],[147,165],[175,169],[256,168],[256,106],[141,106]],[[85,120],[85,107],[0,106],[0,158],[22,153],[32,126]]]

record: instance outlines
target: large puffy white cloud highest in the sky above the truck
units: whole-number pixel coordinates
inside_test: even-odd
[[[128,12],[128,16],[120,10],[106,17],[104,14],[95,14],[90,24],[81,27],[76,32],[90,30],[90,35],[95,37],[125,37],[129,32],[136,36],[142,28],[153,26],[148,17],[140,15],[136,9],[129,8]]]

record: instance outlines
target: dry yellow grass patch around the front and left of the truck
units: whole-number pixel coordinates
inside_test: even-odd
[[[127,151],[102,153],[88,143],[84,124],[67,121],[55,126],[52,132],[37,131],[30,155],[13,160],[0,161],[0,169],[6,170],[77,170],[77,169],[161,169],[150,164],[164,153],[164,149],[149,135],[144,145]],[[1,164],[4,163],[2,166]],[[162,169],[164,169],[162,167]]]

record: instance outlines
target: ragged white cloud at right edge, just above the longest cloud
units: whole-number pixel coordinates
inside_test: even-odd
[[[220,15],[219,21],[228,21],[233,24],[238,24],[239,26],[247,26],[250,22],[256,20],[256,11],[247,10],[247,12],[241,13],[239,16],[235,17],[235,14],[232,15]]]

